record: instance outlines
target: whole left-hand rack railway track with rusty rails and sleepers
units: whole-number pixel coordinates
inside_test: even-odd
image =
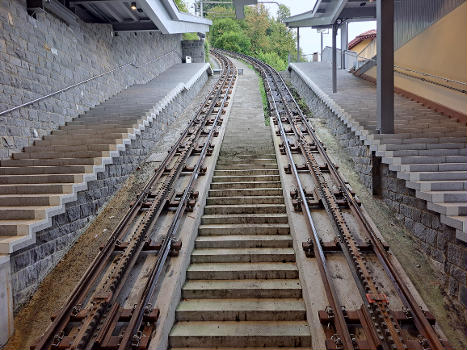
[[[181,248],[179,229],[237,76],[227,57],[214,55],[222,65],[216,86],[32,349],[148,347],[159,317],[155,291]]]

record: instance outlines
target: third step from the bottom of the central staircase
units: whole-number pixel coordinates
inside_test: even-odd
[[[300,298],[298,279],[188,280],[182,297],[195,298]]]

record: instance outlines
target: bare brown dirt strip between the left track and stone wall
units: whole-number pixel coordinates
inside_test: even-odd
[[[167,153],[167,150],[178,139],[180,132],[186,127],[187,122],[193,118],[217,79],[218,76],[209,78],[204,88],[182,115],[170,125],[171,133],[166,133],[159,141],[154,153]],[[99,253],[99,247],[107,241],[129,209],[135,195],[153,174],[157,163],[145,162],[139,170],[128,177],[121,189],[109,200],[97,218],[91,222],[62,260],[42,281],[31,300],[15,315],[15,333],[5,345],[5,350],[29,349],[30,345],[45,332],[50,324],[50,316],[57,313],[65,304],[68,295]]]

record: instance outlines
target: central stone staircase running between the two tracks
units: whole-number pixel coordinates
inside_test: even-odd
[[[172,349],[310,348],[275,155],[218,160]]]

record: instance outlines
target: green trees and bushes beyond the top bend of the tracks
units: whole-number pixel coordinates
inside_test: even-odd
[[[223,6],[210,9],[210,13],[233,10]],[[288,17],[290,10],[281,5],[278,20],[263,5],[245,8],[245,19],[211,17],[213,25],[209,38],[214,47],[241,52],[259,58],[277,70],[287,68],[289,53],[297,55],[295,35],[280,20]]]

